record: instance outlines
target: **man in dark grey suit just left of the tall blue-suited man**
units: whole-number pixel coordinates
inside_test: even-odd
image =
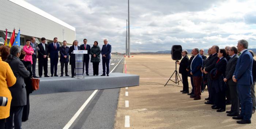
[[[227,62],[227,66],[226,66],[226,72],[225,75],[226,77],[223,79],[223,81],[225,81],[227,83],[227,88],[229,88],[230,91],[230,100],[231,100],[231,110],[230,111],[226,111],[227,116],[238,116],[240,113],[239,110],[239,98],[238,98],[238,92],[237,92],[237,83],[235,83],[232,80],[232,76],[233,73],[236,69],[236,64],[237,64],[237,59],[238,59],[238,55],[237,55],[237,48],[236,47],[231,47],[229,48],[229,56],[231,57],[229,59],[229,61]]]

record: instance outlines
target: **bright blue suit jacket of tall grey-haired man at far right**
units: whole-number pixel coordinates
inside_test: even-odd
[[[237,79],[237,84],[252,85],[252,54],[245,50],[237,59],[236,70],[234,76]]]

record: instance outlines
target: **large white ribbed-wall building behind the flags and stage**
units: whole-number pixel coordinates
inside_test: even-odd
[[[35,37],[37,43],[45,37],[49,44],[54,37],[58,42],[67,41],[72,45],[75,40],[75,27],[48,14],[47,12],[27,3],[24,0],[0,0],[0,42],[4,42],[5,29],[7,29],[8,43],[15,28],[16,35],[20,29],[20,45],[26,39]],[[15,36],[16,36],[15,35]]]

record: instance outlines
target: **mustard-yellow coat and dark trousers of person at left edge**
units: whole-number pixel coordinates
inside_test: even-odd
[[[4,129],[5,118],[8,118],[10,115],[12,96],[8,87],[13,86],[15,83],[16,77],[14,76],[10,65],[7,62],[2,61],[2,58],[0,57],[0,96],[8,98],[7,106],[0,106],[0,129]]]

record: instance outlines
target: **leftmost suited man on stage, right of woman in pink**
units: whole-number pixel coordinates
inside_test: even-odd
[[[34,54],[32,54],[32,60],[33,60],[33,64],[32,64],[32,73],[33,73],[33,77],[34,78],[38,78],[38,76],[35,76],[35,65],[37,64],[37,51],[39,50],[37,44],[35,44],[35,38],[31,37],[30,38],[30,46],[33,48],[34,50]]]

